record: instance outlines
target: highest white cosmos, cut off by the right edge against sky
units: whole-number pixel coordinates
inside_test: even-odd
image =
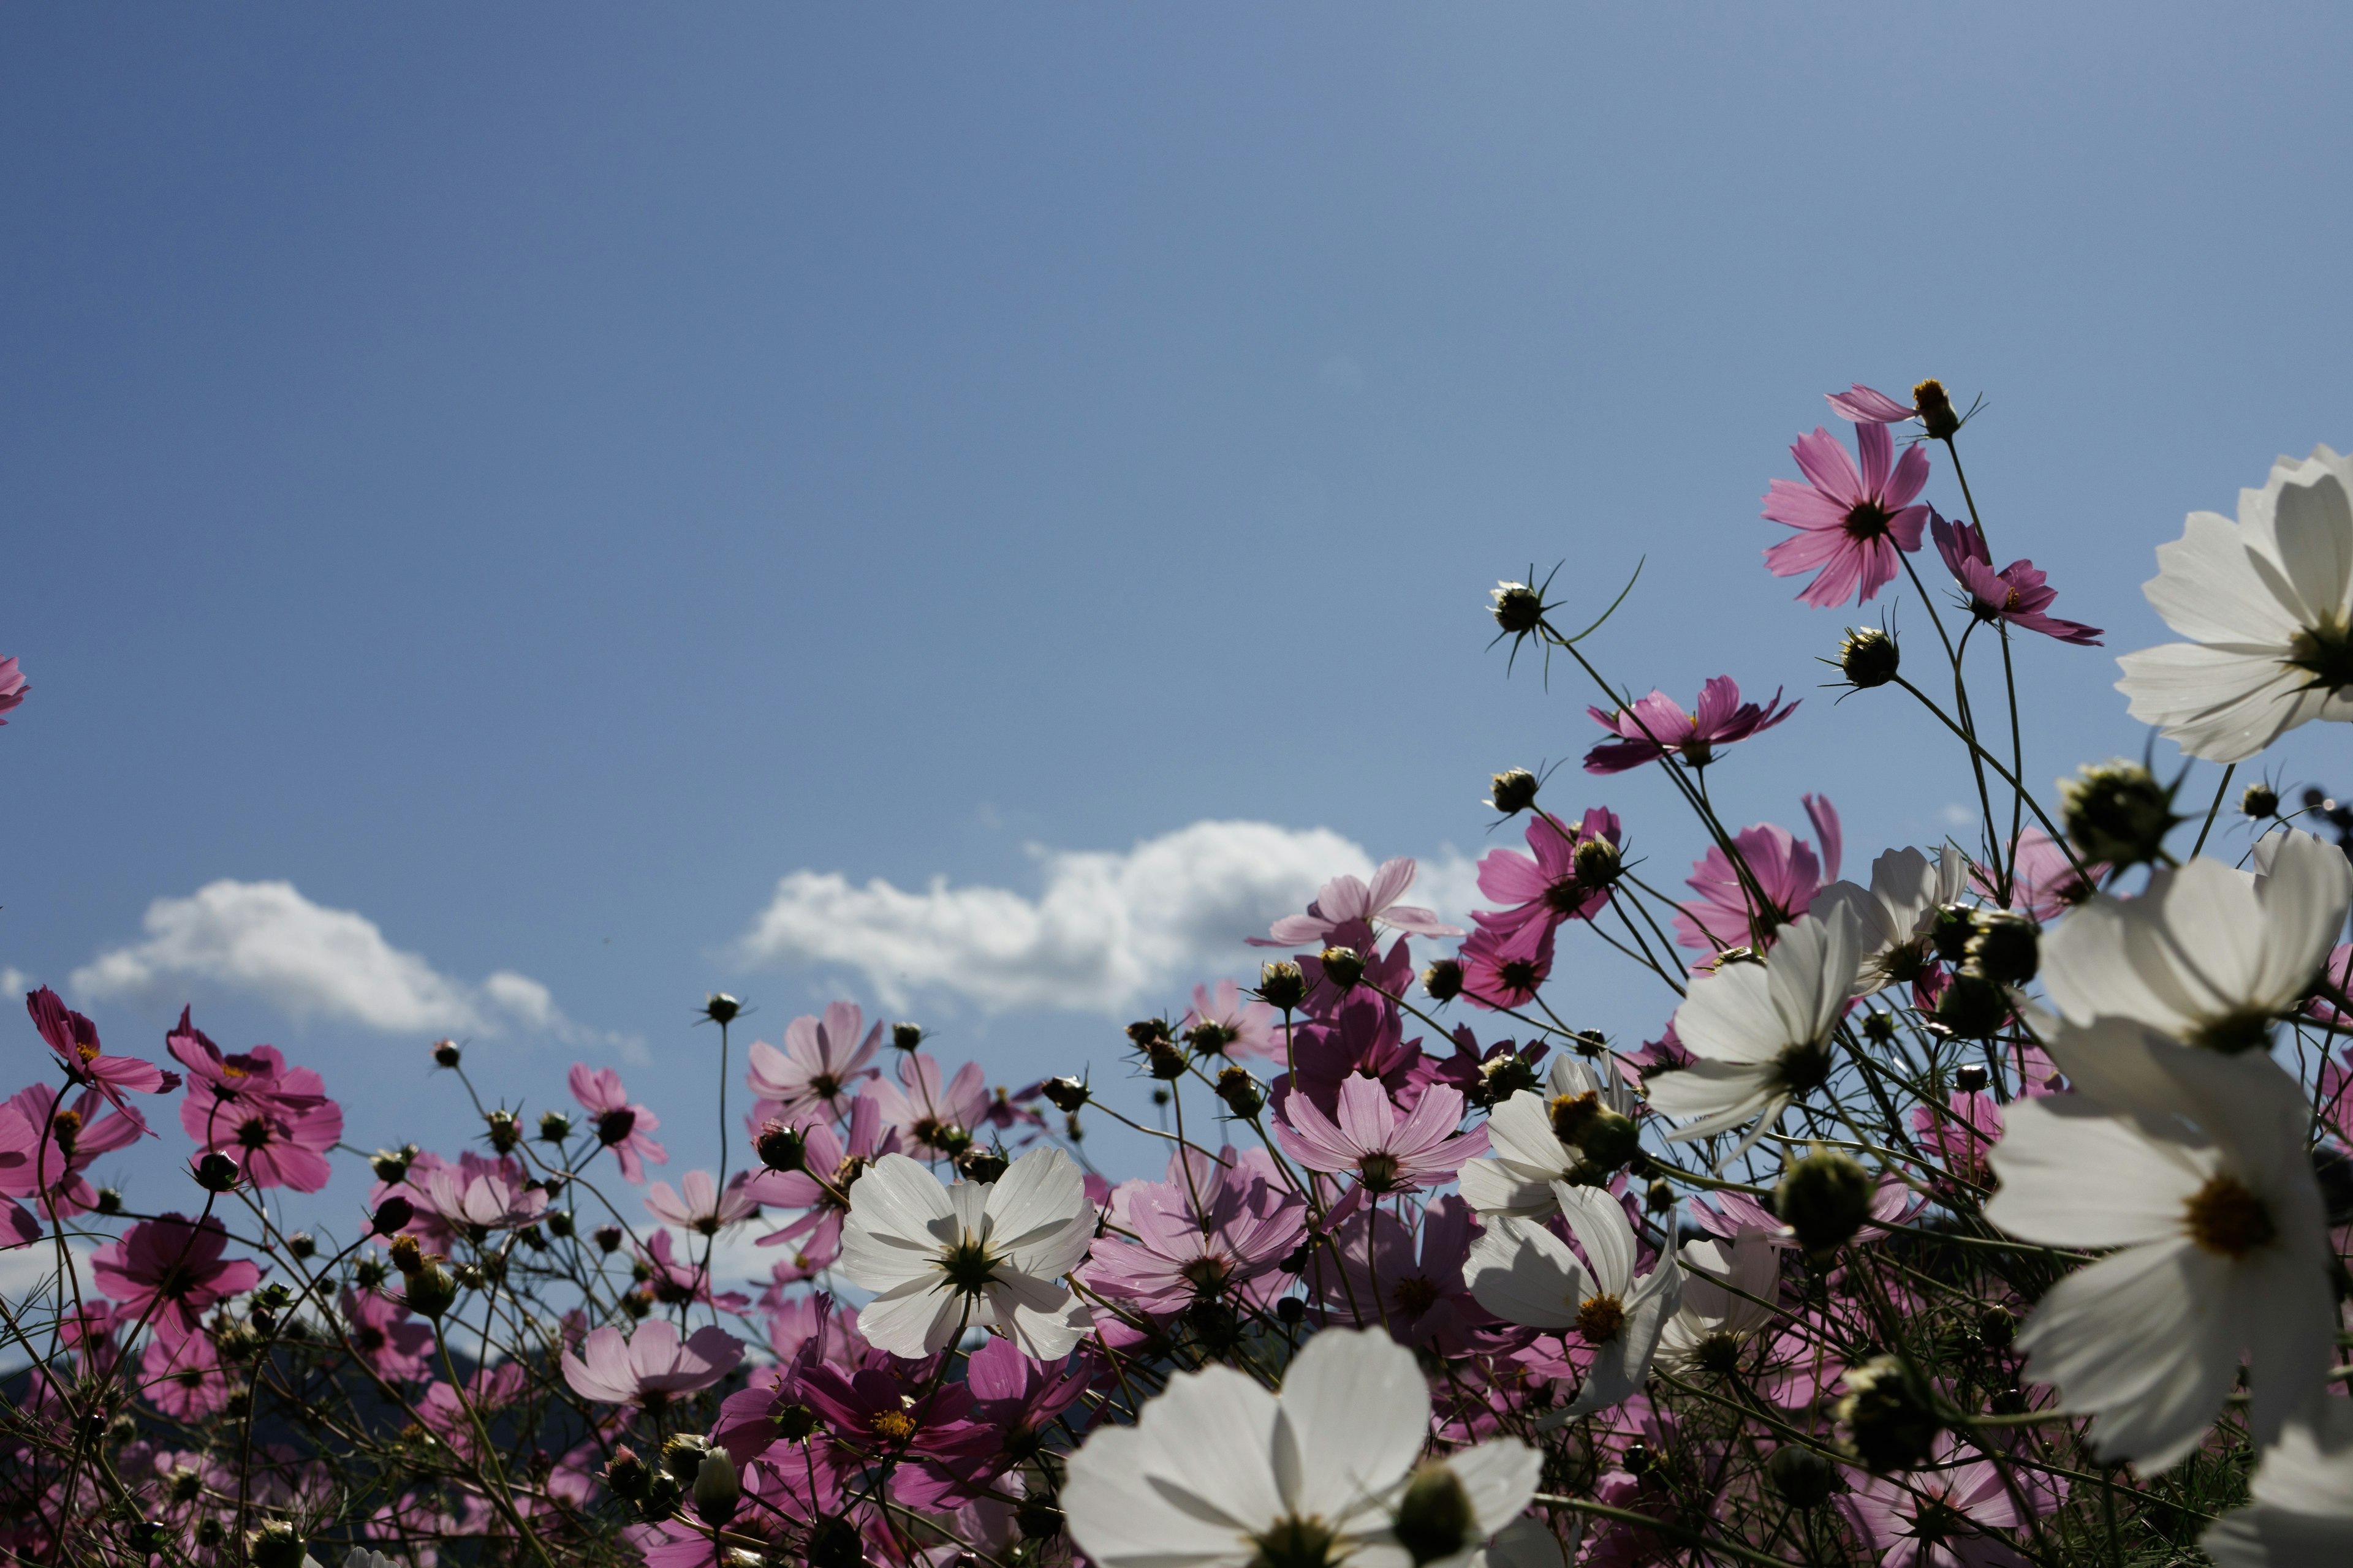
[[[2191,757],[2245,762],[2353,719],[2353,461],[2313,447],[2238,491],[2238,522],[2191,512],[2141,592],[2188,642],[2125,654],[2115,689]]]

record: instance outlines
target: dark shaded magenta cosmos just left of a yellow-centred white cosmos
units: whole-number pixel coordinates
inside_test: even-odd
[[[1468,1352],[1475,1331],[1497,1321],[1464,1284],[1473,1234],[1471,1206],[1452,1192],[1421,1213],[1419,1246],[1398,1215],[1358,1211],[1339,1229],[1341,1267],[1325,1253],[1311,1262],[1325,1321],[1381,1326],[1400,1345],[1428,1345],[1440,1356]]]

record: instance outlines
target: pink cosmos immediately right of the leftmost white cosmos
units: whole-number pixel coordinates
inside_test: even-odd
[[[1289,1281],[1280,1265],[1306,1237],[1306,1197],[1280,1182],[1266,1150],[1179,1150],[1167,1180],[1113,1190],[1111,1220],[1132,1244],[1096,1241],[1080,1269],[1089,1288],[1155,1316],[1205,1300],[1264,1307]]]

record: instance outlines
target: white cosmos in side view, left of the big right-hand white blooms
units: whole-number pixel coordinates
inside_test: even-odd
[[[1652,1110],[1694,1117],[1668,1138],[1706,1138],[1746,1121],[1746,1150],[1781,1110],[1831,1077],[1831,1032],[1847,1011],[1864,952],[1854,910],[1805,914],[1781,931],[1762,964],[1722,964],[1692,980],[1675,1009],[1675,1037],[1699,1058],[1647,1074]]]

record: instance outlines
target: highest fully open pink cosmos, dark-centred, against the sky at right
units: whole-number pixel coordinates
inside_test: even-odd
[[[1821,425],[1791,447],[1805,484],[1774,480],[1765,494],[1765,517],[1798,529],[1795,538],[1765,550],[1774,576],[1821,569],[1798,597],[1814,607],[1840,604],[1852,592],[1861,604],[1885,588],[1899,550],[1920,548],[1927,508],[1915,505],[1927,484],[1927,449],[1906,447],[1894,458],[1894,437],[1882,423],[1854,428],[1864,454],[1861,473],[1847,449]]]

